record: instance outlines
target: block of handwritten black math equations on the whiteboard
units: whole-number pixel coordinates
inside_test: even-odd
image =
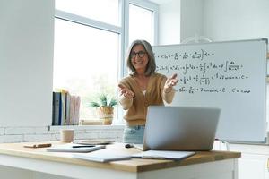
[[[233,81],[233,84],[237,84],[239,82],[234,81],[249,79],[244,69],[245,66],[239,64],[236,59],[226,59],[222,62],[219,59],[214,61],[211,58],[214,55],[214,53],[206,52],[204,49],[194,53],[184,52],[180,54],[176,52],[155,55],[157,59],[156,71],[164,74],[178,73],[179,89],[177,91],[180,93],[250,93],[250,90],[245,88],[230,88],[229,85],[213,88],[222,86],[220,84],[228,84],[227,81]]]

